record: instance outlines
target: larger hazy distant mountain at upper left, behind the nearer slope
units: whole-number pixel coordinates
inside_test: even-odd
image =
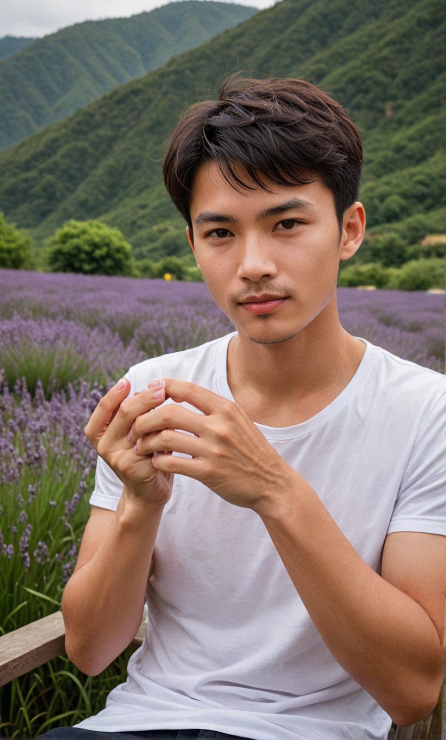
[[[185,0],[132,18],[79,23],[38,39],[0,62],[0,149],[203,44],[256,10]]]

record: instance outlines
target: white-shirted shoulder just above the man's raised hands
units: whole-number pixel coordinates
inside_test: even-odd
[[[151,357],[132,366],[126,376],[132,384],[132,393],[146,388],[150,380],[163,377],[194,382],[200,380],[205,385],[206,377],[214,371],[217,349],[228,343],[232,335],[226,334],[191,349]]]

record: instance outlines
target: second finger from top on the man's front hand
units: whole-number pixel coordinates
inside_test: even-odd
[[[189,408],[178,406],[177,403],[166,403],[166,406],[156,408],[147,414],[141,414],[132,425],[129,439],[135,444],[136,440],[162,429],[182,429],[201,437],[206,425],[203,414],[197,414]]]

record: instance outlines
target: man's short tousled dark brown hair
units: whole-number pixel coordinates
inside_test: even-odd
[[[337,101],[299,79],[231,75],[218,100],[200,101],[180,119],[163,161],[167,192],[192,228],[197,169],[214,162],[234,189],[303,185],[319,179],[333,192],[339,228],[357,201],[359,132]]]

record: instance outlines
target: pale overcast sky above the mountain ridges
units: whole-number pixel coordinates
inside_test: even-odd
[[[0,38],[46,36],[81,21],[134,16],[166,5],[169,0],[0,0]],[[206,1],[206,0],[203,0]],[[226,0],[224,0],[226,1]],[[237,0],[265,8],[274,0]]]

